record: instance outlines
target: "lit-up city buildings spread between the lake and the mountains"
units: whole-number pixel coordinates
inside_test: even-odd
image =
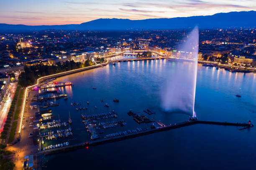
[[[0,72],[23,70],[23,66],[84,62],[124,50],[151,50],[166,57],[189,58],[177,51],[188,30],[140,32],[84,32],[47,30],[0,35]],[[200,30],[198,60],[256,67],[256,29]],[[227,56],[225,56],[227,55]]]

